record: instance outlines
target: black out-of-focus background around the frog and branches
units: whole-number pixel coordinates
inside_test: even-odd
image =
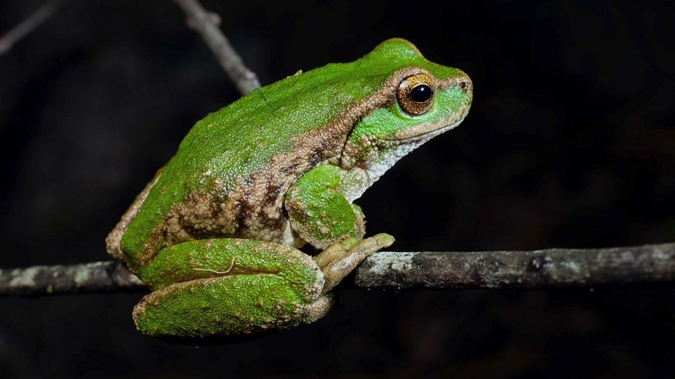
[[[0,2],[0,33],[42,1]],[[263,84],[389,37],[465,70],[459,128],[358,201],[395,251],[675,240],[672,1],[216,3]],[[0,267],[109,260],[188,128],[238,95],[170,1],[71,1],[0,56]],[[142,293],[0,299],[3,378],[665,377],[674,284],[338,290],[326,318],[212,347],[133,329]]]

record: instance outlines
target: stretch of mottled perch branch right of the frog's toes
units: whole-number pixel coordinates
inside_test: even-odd
[[[675,244],[610,249],[390,253],[356,269],[362,288],[550,288],[675,279]]]

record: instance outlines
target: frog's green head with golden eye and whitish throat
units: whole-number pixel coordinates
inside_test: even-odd
[[[464,72],[427,61],[403,39],[380,43],[361,61],[372,77],[381,77],[381,84],[351,110],[360,117],[347,137],[340,166],[364,169],[372,184],[403,155],[459,125],[473,88]]]

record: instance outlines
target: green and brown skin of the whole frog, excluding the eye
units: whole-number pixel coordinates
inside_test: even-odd
[[[411,114],[400,86],[420,72],[433,95]],[[464,72],[390,39],[357,61],[282,79],[207,115],[107,238],[109,253],[153,291],[133,310],[138,330],[210,338],[322,317],[328,291],[394,242],[363,239],[353,200],[397,159],[459,124],[471,99]],[[299,251],[305,244],[319,253]]]

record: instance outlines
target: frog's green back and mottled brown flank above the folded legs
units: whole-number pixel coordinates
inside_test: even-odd
[[[387,61],[371,54],[294,75],[197,122],[113,230],[109,252],[143,261],[165,246],[228,236],[292,244],[282,210],[290,185],[338,159],[351,124],[362,116],[351,115],[354,104],[395,70],[429,64],[405,51],[407,42],[385,43],[398,43],[405,54]]]

